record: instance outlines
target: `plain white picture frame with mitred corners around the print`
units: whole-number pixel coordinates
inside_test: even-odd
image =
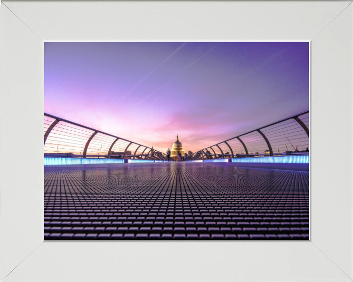
[[[310,240],[44,242],[46,41],[310,41]],[[2,1],[0,280],[353,281],[352,62],[352,1]]]

